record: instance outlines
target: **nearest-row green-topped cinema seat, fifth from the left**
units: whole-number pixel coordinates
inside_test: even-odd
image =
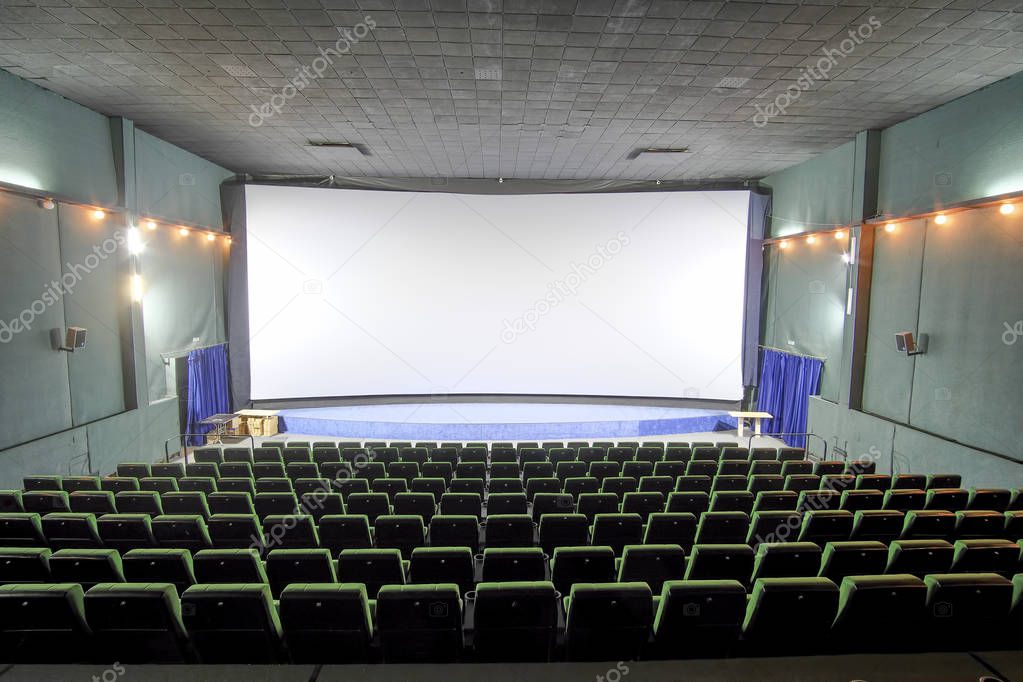
[[[461,654],[458,586],[387,585],[376,595],[385,663],[453,663]]]

